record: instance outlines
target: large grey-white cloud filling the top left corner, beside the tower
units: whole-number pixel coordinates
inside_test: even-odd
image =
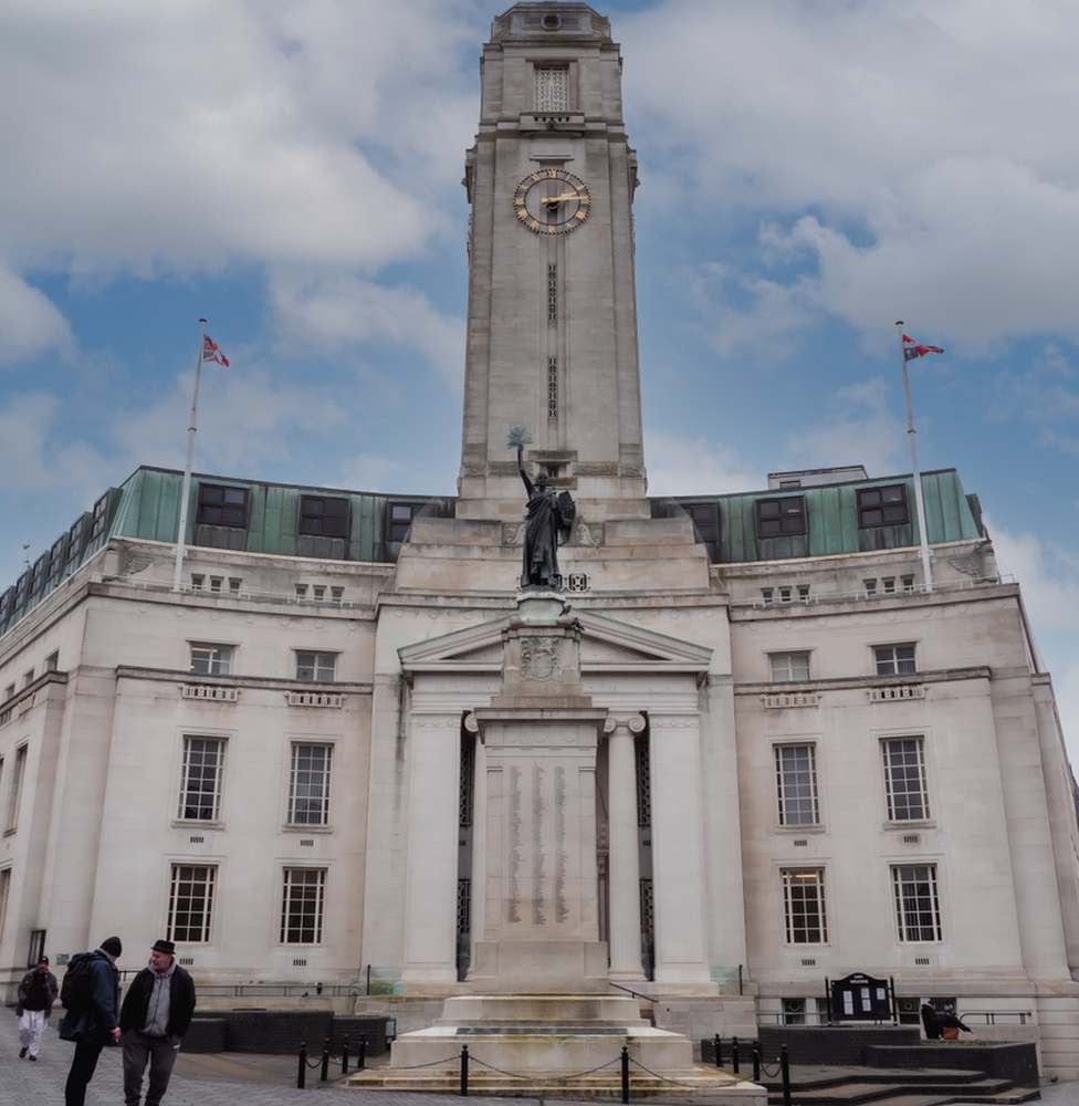
[[[473,125],[465,17],[434,0],[8,6],[9,257],[106,276],[415,257]]]

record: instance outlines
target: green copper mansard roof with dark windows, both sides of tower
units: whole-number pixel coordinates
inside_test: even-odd
[[[0,592],[0,634],[15,625],[112,538],[175,542],[184,476],[168,469],[137,469],[80,515],[14,585]],[[898,493],[894,489],[901,488]],[[867,502],[891,489],[902,501],[903,521],[867,524]],[[867,499],[866,493],[870,493]],[[977,497],[963,492],[954,469],[922,474],[930,544],[985,536]],[[216,499],[214,499],[216,497]],[[233,500],[223,521],[207,521],[211,503]],[[321,515],[332,502],[333,517]],[[321,505],[322,504],[322,505]],[[783,488],[733,495],[653,499],[653,518],[688,513],[698,540],[714,563],[734,564],[824,556],[919,543],[914,484],[910,476],[857,480],[824,487]],[[301,484],[264,483],[195,474],[186,543],[279,556],[395,562],[400,539],[419,514],[452,517],[454,501],[422,495],[385,495]],[[218,514],[228,513],[223,508]],[[894,513],[894,511],[893,511]],[[317,532],[319,526],[325,532]],[[771,533],[769,531],[777,531]]]

